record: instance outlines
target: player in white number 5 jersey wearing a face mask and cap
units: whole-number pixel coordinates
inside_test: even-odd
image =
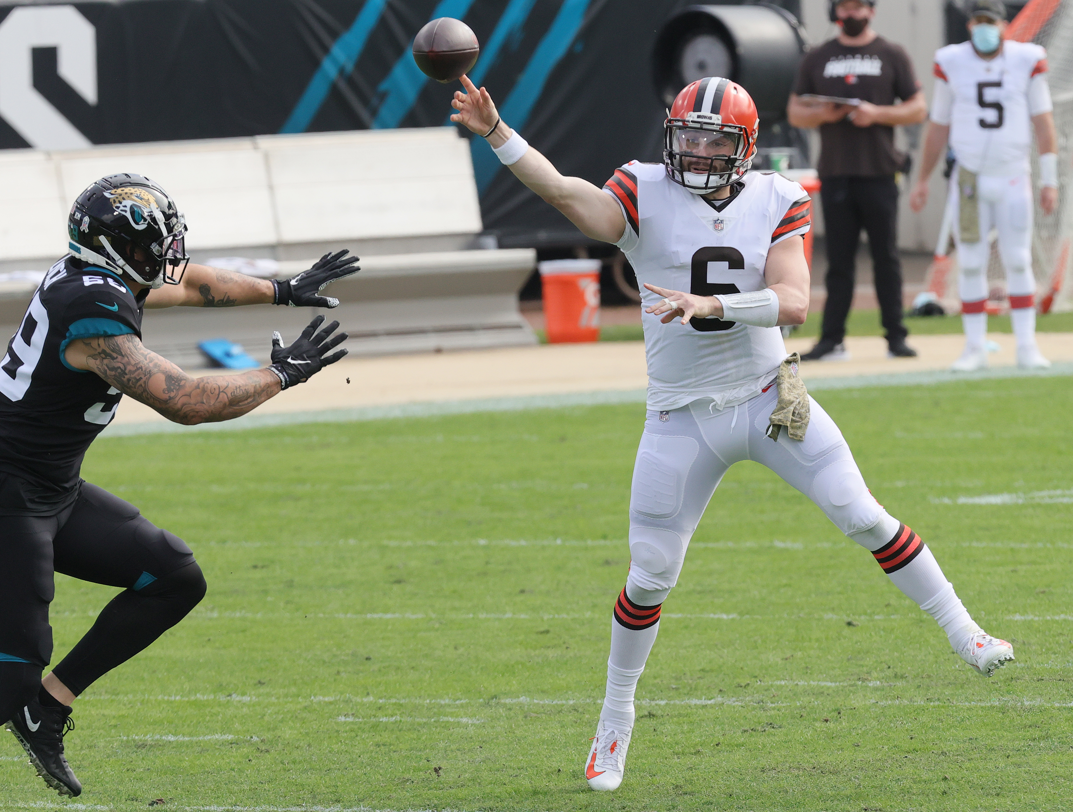
[[[910,205],[920,211],[927,203],[928,176],[949,142],[957,159],[947,205],[955,225],[966,336],[965,352],[953,369],[987,366],[985,306],[993,227],[1006,274],[1017,364],[1045,369],[1050,363],[1035,345],[1029,152],[1034,129],[1040,149],[1040,206],[1050,213],[1058,200],[1058,156],[1047,55],[1033,43],[1002,41],[1005,9],[998,0],[975,2],[970,13],[971,39],[936,53],[935,97],[921,177]]]

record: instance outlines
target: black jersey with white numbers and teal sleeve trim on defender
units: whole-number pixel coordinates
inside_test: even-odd
[[[135,296],[112,271],[68,256],[33,294],[0,360],[0,471],[34,491],[18,513],[48,513],[74,500],[83,456],[122,397],[92,372],[70,366],[63,358],[68,344],[100,336],[141,338],[148,293]],[[0,512],[16,511],[0,505]]]

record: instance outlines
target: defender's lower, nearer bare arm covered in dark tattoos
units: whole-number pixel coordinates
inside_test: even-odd
[[[279,377],[268,369],[191,378],[147,350],[134,335],[77,339],[68,344],[64,358],[188,426],[239,417],[278,395],[281,387]]]

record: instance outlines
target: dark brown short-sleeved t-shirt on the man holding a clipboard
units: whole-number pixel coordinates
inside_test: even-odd
[[[894,104],[916,94],[921,83],[900,45],[877,36],[867,45],[847,47],[829,40],[808,54],[797,68],[794,92]],[[894,175],[905,156],[894,148],[894,128],[855,127],[848,118],[820,126],[820,177]]]

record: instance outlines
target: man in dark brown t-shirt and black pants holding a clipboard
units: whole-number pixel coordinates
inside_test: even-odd
[[[898,187],[903,156],[894,148],[894,127],[927,116],[927,102],[909,56],[870,26],[876,0],[831,0],[836,39],[808,54],[787,115],[800,128],[820,128],[819,174],[827,243],[827,304],[820,341],[805,360],[848,357],[842,344],[853,300],[861,230],[868,233],[883,328],[892,356],[911,357],[901,322],[898,256]],[[859,105],[802,99],[806,93],[859,99]],[[901,100],[899,104],[895,100]]]

